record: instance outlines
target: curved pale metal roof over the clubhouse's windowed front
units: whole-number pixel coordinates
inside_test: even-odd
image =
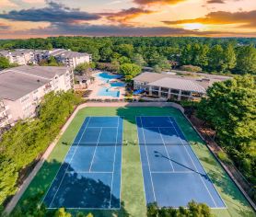
[[[190,80],[183,80],[180,78],[164,77],[155,82],[148,84],[149,86],[161,86],[166,88],[178,89],[183,91],[192,91],[197,93],[205,93],[203,86],[198,85]]]

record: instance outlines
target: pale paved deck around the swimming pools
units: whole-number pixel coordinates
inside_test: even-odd
[[[88,97],[88,99],[123,99],[125,97],[125,86],[112,86],[112,90],[120,91],[119,97],[111,97],[111,96],[98,96],[99,89],[103,86],[108,86],[108,84],[101,81],[95,74],[93,74],[95,77],[95,82],[88,87],[88,90],[91,90],[92,93]],[[119,79],[111,79],[113,81],[119,81]]]

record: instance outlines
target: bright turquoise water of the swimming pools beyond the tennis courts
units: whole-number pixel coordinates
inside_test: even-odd
[[[121,87],[125,86],[123,82],[110,82],[111,79],[119,79],[122,77],[120,74],[108,74],[108,73],[99,73],[96,76],[105,84],[109,84],[109,87],[102,86],[99,89],[97,96],[99,97],[120,97],[119,90],[111,90],[111,87]]]

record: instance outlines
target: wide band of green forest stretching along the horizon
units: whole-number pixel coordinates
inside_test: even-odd
[[[0,49],[63,48],[92,54],[93,62],[108,63],[118,71],[122,64],[153,67],[160,72],[173,62],[193,65],[207,73],[256,74],[256,39],[171,37],[57,37],[0,40]],[[104,64],[103,64],[104,65]],[[102,64],[101,64],[102,67]]]

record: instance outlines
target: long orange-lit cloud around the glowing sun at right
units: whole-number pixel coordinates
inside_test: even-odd
[[[205,17],[194,19],[181,19],[175,21],[163,21],[168,25],[179,25],[185,23],[202,23],[211,25],[238,24],[243,28],[256,28],[256,10],[242,12],[216,11],[207,14]]]

